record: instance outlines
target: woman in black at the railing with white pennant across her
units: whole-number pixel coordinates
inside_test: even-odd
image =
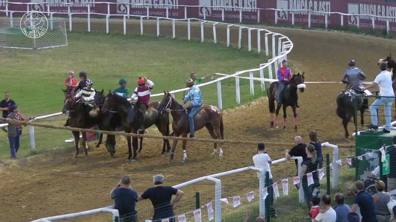
[[[319,178],[318,178],[318,172],[316,171],[318,169],[318,163],[316,162],[316,150],[313,145],[308,145],[307,148],[305,148],[305,151],[307,152],[307,158],[306,160],[301,164],[303,167],[303,190],[304,190],[304,196],[305,196],[305,201],[307,201],[308,205],[308,211],[310,210],[310,201],[312,201],[312,192],[313,189],[318,186],[319,184]],[[308,186],[308,179],[307,179],[307,173],[312,173],[312,178],[314,180],[313,184],[310,184]],[[312,215],[308,215],[312,217]]]

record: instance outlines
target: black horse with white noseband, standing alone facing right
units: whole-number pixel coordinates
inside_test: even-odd
[[[274,126],[278,128],[278,114],[280,107],[283,105],[283,128],[286,130],[286,108],[288,106],[291,106],[291,109],[293,109],[293,114],[294,114],[294,128],[297,130],[297,112],[296,112],[296,106],[297,106],[297,101],[298,101],[298,95],[297,95],[297,89],[300,90],[300,92],[304,92],[305,90],[305,84],[304,84],[304,74],[300,75],[300,73],[297,73],[297,75],[293,75],[293,77],[290,79],[290,82],[285,86],[283,93],[282,93],[282,103],[279,103],[277,98],[278,98],[278,81],[271,83],[270,87],[267,89],[267,96],[268,96],[268,102],[269,102],[269,109],[271,113],[271,127]],[[275,100],[278,103],[278,106],[276,107],[276,117],[274,118],[274,112],[275,112]]]

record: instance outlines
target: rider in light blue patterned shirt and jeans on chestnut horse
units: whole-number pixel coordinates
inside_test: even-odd
[[[188,91],[187,96],[184,98],[183,105],[186,104],[188,100],[191,100],[191,104],[184,107],[184,109],[192,107],[188,113],[188,125],[190,127],[190,138],[194,138],[194,116],[198,113],[202,106],[202,94],[201,90],[194,85],[194,81],[192,79],[187,79],[187,85],[190,87],[190,91]]]

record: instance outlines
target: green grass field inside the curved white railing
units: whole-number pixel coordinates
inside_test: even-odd
[[[0,59],[1,92],[10,91],[11,99],[19,105],[25,118],[56,113],[62,110],[67,71],[87,71],[96,90],[114,90],[120,78],[127,78],[130,91],[135,80],[146,76],[155,83],[153,93],[185,87],[192,71],[198,76],[214,72],[232,74],[235,71],[258,67],[267,61],[262,54],[227,48],[225,45],[198,41],[171,40],[153,36],[68,32],[69,46],[55,49],[2,49]],[[259,73],[255,73],[259,77]],[[249,81],[240,80],[241,103],[262,96],[260,84],[255,82],[256,94],[249,94]],[[221,83],[223,109],[236,106],[235,79]],[[215,84],[202,87],[204,103],[217,105]],[[181,99],[176,94],[176,99]],[[162,97],[152,98],[158,101]],[[63,125],[65,116],[40,120],[40,123]],[[37,153],[72,148],[64,139],[68,131],[35,128]],[[24,128],[18,157],[30,154],[28,128]],[[0,132],[0,159],[10,158],[8,139]]]

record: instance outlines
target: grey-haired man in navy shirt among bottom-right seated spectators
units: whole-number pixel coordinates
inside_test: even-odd
[[[362,215],[362,222],[378,222],[377,217],[375,216],[373,197],[364,191],[364,182],[356,181],[355,190],[358,194],[355,197],[351,212],[355,213],[359,207],[360,214]],[[354,193],[351,192],[351,196],[353,197]]]

